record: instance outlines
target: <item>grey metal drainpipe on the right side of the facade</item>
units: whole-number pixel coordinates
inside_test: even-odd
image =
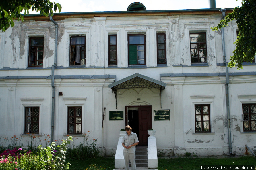
[[[221,9],[222,12],[221,19],[225,18],[226,9]],[[227,108],[227,123],[228,123],[228,149],[229,154],[232,154],[232,142],[231,142],[231,128],[230,128],[230,106],[229,106],[229,92],[228,92],[228,84],[229,84],[229,75],[228,75],[228,62],[226,61],[226,49],[225,49],[225,39],[224,39],[224,27],[221,28],[221,38],[222,38],[222,51],[223,51],[223,63],[226,67],[226,84],[225,84],[225,91],[226,91],[226,108]]]

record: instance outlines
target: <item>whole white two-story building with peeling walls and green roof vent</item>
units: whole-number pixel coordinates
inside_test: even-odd
[[[112,156],[129,124],[158,155],[256,152],[256,63],[226,67],[238,27],[212,31],[220,10],[24,16],[0,32],[0,136],[90,131]]]

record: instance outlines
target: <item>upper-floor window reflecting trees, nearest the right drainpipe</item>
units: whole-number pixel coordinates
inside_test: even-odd
[[[191,63],[207,63],[206,33],[190,33]]]

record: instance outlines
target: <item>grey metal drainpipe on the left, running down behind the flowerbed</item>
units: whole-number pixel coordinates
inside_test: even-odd
[[[57,66],[57,45],[58,45],[58,24],[50,16],[51,22],[55,24],[55,50],[54,50],[54,64],[51,66],[51,87],[52,87],[52,101],[51,101],[51,143],[54,139],[54,116],[55,116],[55,86],[54,73]]]

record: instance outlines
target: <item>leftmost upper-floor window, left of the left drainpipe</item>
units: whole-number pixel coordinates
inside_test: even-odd
[[[29,38],[28,66],[43,66],[44,37]]]

